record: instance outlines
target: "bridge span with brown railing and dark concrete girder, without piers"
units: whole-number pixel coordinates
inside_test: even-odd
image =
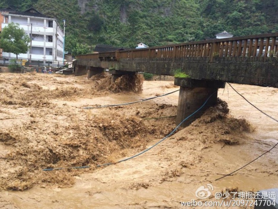
[[[162,75],[182,69],[192,79],[278,87],[277,37],[266,33],[79,55],[76,65]]]

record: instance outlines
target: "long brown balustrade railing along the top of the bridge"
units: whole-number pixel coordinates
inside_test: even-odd
[[[248,57],[251,60],[254,57],[263,57],[261,60],[266,61],[266,57],[278,56],[277,48],[278,33],[265,33],[143,49],[102,52],[98,54],[98,58],[115,57],[115,60],[120,60],[123,58],[209,57],[212,62],[215,57]],[[92,55],[80,55],[77,59],[88,59],[90,56]]]

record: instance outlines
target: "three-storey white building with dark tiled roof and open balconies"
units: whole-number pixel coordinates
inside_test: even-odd
[[[24,12],[11,12],[7,9],[1,9],[3,18],[1,30],[8,25],[8,23],[18,23],[20,28],[25,30],[25,33],[31,37],[32,24],[32,61],[38,62],[54,62],[63,61],[63,44],[64,32],[56,19],[47,17],[37,10],[31,8]],[[18,59],[30,58],[30,51],[26,54],[19,54]],[[3,58],[16,58],[13,53],[2,52]]]

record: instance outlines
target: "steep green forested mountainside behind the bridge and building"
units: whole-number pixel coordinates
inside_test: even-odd
[[[132,47],[201,40],[224,30],[242,36],[278,31],[278,0],[2,0],[0,8],[34,7],[66,20],[66,48]]]

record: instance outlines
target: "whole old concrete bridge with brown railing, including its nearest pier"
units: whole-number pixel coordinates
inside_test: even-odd
[[[180,86],[177,124],[223,87],[225,82],[278,88],[278,33],[213,39],[134,50],[102,52],[76,57],[75,75],[88,77],[112,69],[112,81],[124,74],[147,72],[174,75],[177,69],[190,79]],[[215,93],[206,104],[216,103]],[[190,122],[199,117],[196,115]]]

